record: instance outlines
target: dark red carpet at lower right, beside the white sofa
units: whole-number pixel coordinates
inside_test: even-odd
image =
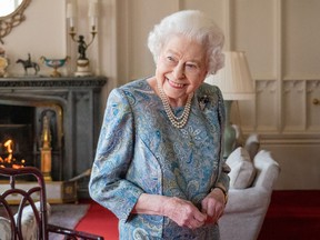
[[[258,240],[320,239],[320,191],[273,191]]]

